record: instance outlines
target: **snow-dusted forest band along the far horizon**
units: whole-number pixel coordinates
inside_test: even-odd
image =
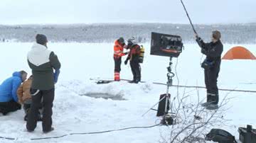
[[[195,25],[201,37],[210,39],[212,30],[220,30],[223,42],[255,44],[256,23]],[[149,42],[151,32],[181,35],[185,42],[193,40],[193,30],[187,24],[167,23],[99,23],[75,25],[0,25],[0,42],[33,42],[36,33],[48,36],[50,42],[113,42],[123,36],[135,36],[139,42]]]

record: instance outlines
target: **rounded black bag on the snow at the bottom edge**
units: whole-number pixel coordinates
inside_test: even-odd
[[[219,143],[237,143],[233,135],[221,129],[210,130],[210,132],[206,135],[206,140]]]

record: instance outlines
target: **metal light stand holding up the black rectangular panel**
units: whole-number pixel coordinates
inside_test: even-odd
[[[165,104],[165,108],[164,108],[164,115],[168,114],[168,103],[169,103],[169,107],[171,104],[171,96],[169,96],[169,88],[170,86],[173,85],[173,77],[175,76],[175,74],[171,71],[171,66],[172,66],[173,62],[172,62],[172,57],[170,57],[170,62],[169,62],[169,67],[167,67],[167,89],[166,89],[166,94],[164,97],[162,97],[159,102],[157,102],[156,104],[154,104],[149,110],[146,111],[146,113],[149,113],[150,110],[154,110],[153,108],[159,104],[161,101],[163,101],[164,99],[166,99],[166,104]],[[171,109],[172,107],[170,107]],[[146,113],[144,113],[142,116],[146,115]],[[172,109],[171,109],[171,113],[172,113]]]

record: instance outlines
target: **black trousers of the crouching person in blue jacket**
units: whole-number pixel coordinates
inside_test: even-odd
[[[6,115],[7,113],[14,112],[20,109],[21,109],[21,105],[19,103],[16,103],[16,101],[14,100],[0,103],[0,113],[2,113],[3,115]]]

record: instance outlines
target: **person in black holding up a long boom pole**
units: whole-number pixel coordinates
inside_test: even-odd
[[[208,110],[218,108],[219,93],[217,86],[218,74],[220,72],[221,54],[223,52],[223,44],[220,41],[221,34],[218,30],[214,30],[211,35],[212,42],[205,43],[196,35],[196,42],[201,47],[201,52],[206,55],[206,59],[201,67],[204,69],[205,84],[207,89],[207,102],[202,106]]]

